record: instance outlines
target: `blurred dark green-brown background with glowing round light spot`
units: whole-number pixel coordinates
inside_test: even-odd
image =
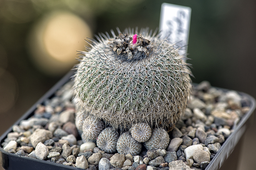
[[[254,0],[0,0],[0,133],[72,68],[86,37],[116,27],[155,30],[162,3],[192,9],[193,81],[256,97]],[[242,151],[232,154],[241,158],[238,169],[255,169],[254,129],[243,136]]]

